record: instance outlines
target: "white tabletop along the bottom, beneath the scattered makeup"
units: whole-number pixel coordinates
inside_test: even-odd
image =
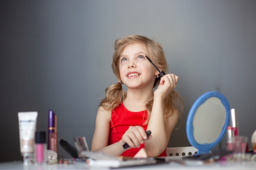
[[[169,162],[156,165],[134,166],[118,168],[122,170],[256,170],[256,161],[226,162],[219,161],[204,165],[182,165]],[[108,170],[109,168],[89,167],[86,163],[76,162],[75,164],[52,164],[47,166],[29,165],[25,166],[21,161],[0,163],[0,170]]]

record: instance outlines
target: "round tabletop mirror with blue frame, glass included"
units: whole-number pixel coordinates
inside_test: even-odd
[[[219,144],[227,131],[229,119],[229,102],[221,93],[210,91],[195,101],[187,117],[186,135],[199,155],[209,153]]]

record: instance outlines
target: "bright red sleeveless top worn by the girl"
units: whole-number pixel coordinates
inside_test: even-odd
[[[143,123],[147,119],[147,115],[146,110],[131,112],[125,108],[123,103],[117,106],[117,108],[111,112],[108,145],[120,141],[130,126],[142,126],[146,130],[148,125],[143,125]],[[144,148],[144,144],[141,144],[140,148],[131,148],[126,150],[121,154],[121,156],[133,157],[141,148]],[[159,156],[167,156],[166,150]]]

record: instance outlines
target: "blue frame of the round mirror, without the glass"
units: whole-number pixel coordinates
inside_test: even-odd
[[[217,97],[218,99],[220,99],[221,103],[223,104],[223,106],[226,109],[226,120],[225,120],[224,126],[222,127],[219,137],[215,141],[213,141],[212,143],[209,143],[209,144],[199,144],[195,140],[194,135],[193,135],[194,134],[193,133],[194,132],[193,119],[194,119],[196,111],[201,106],[201,104],[203,104],[210,97]],[[230,107],[229,107],[229,102],[224,95],[222,95],[221,93],[219,93],[217,91],[210,91],[210,92],[204,93],[203,95],[198,97],[198,99],[192,105],[192,107],[189,111],[188,117],[187,117],[187,121],[186,121],[187,138],[189,140],[189,143],[198,149],[198,153],[197,153],[198,155],[209,153],[212,148],[214,148],[215,146],[217,146],[220,143],[220,141],[222,140],[222,138],[224,137],[224,135],[227,131],[227,126],[229,125],[229,120],[230,120]]]

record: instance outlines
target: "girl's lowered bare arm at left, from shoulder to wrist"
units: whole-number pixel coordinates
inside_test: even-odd
[[[101,106],[96,116],[95,131],[92,138],[91,151],[100,151],[108,155],[119,156],[125,149],[121,141],[108,146],[111,111],[104,110]]]

